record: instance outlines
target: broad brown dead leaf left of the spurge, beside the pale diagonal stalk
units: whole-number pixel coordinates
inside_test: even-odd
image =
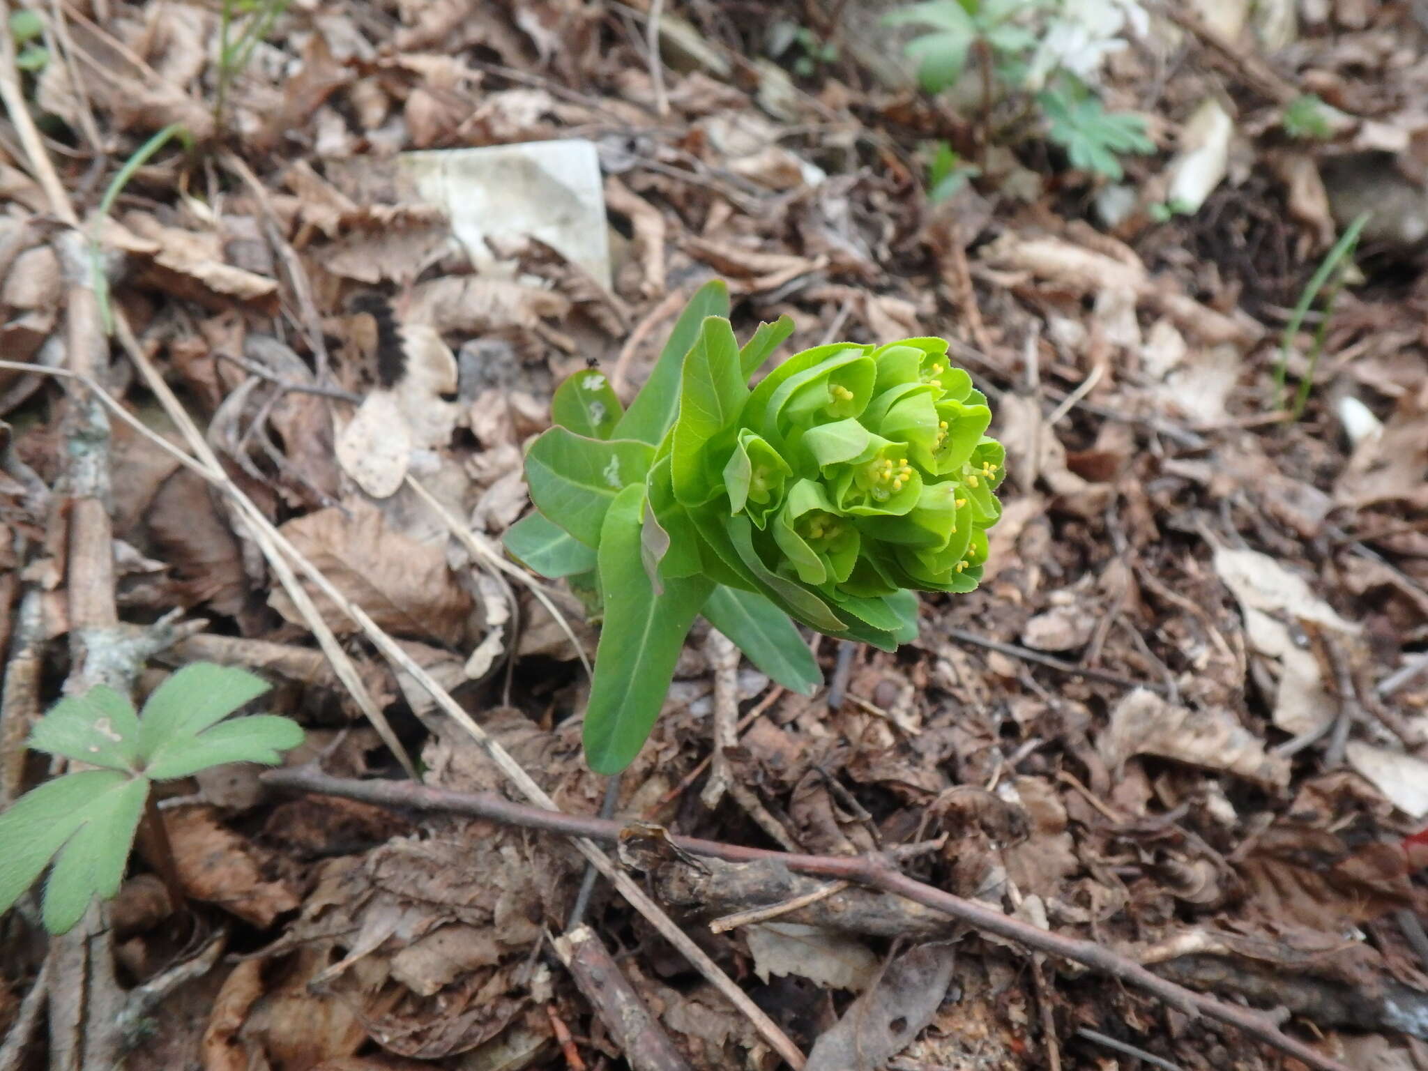
[[[447,567],[446,540],[427,544],[401,536],[376,506],[360,500],[287,521],[280,531],[381,628],[451,647],[463,641],[471,597]],[[357,630],[324,594],[311,594],[334,631]],[[280,588],[268,603],[293,624],[304,623]]]

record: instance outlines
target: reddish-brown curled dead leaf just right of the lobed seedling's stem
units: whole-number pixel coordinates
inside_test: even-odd
[[[301,902],[283,881],[267,881],[270,853],[218,824],[211,807],[164,814],[174,865],[184,891],[217,904],[260,930]]]

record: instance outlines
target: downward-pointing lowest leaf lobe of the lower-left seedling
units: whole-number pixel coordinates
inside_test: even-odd
[[[60,848],[44,883],[40,915],[51,934],[71,930],[96,895],[119,892],[147,795],[149,781],[127,778],[84,808],[84,824]]]

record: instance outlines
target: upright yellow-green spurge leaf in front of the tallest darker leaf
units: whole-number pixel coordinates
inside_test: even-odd
[[[684,358],[670,454],[674,497],[685,506],[700,506],[714,494],[705,471],[705,447],[720,433],[733,433],[748,400],[738,361],[738,341],[728,320],[707,317]]]

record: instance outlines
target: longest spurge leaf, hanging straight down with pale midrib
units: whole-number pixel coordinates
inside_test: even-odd
[[[713,591],[703,577],[665,581],[655,595],[641,560],[644,488],[624,488],[600,534],[600,590],[605,620],[585,710],[585,761],[617,774],[650,735],[700,607]]]

